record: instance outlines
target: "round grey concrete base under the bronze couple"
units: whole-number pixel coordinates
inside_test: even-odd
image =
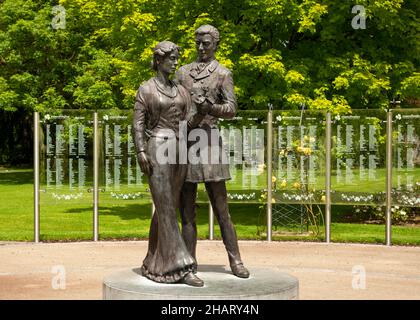
[[[248,279],[235,277],[222,266],[201,266],[197,276],[204,287],[156,283],[140,268],[127,269],[104,279],[105,300],[290,300],[298,299],[295,277],[274,269],[250,268]]]

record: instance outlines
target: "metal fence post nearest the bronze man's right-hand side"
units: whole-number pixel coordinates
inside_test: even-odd
[[[272,161],[273,161],[273,105],[268,105],[267,114],[267,241],[272,239]]]

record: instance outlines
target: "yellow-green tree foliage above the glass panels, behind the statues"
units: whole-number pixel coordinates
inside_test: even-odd
[[[194,30],[216,26],[217,58],[233,71],[240,109],[348,113],[418,99],[417,0],[4,0],[0,110],[131,109],[165,39],[196,57]],[[54,29],[52,8],[66,9]],[[353,5],[366,29],[353,29]],[[19,131],[19,130],[18,130]]]

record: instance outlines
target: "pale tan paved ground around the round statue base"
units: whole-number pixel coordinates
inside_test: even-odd
[[[420,299],[420,247],[259,241],[240,247],[246,265],[297,277],[301,299]],[[103,277],[139,266],[146,250],[146,241],[0,243],[0,299],[101,299]],[[227,264],[221,241],[199,241],[197,258],[201,265]]]

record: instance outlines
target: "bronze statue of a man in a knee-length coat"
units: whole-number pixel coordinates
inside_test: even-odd
[[[236,97],[231,71],[219,64],[215,52],[219,44],[219,32],[211,25],[203,25],[195,31],[198,52],[197,61],[181,67],[175,74],[175,81],[183,85],[191,94],[204,92],[206,99],[201,104],[204,113],[198,128],[207,133],[209,161],[188,164],[187,177],[181,195],[182,237],[190,254],[196,258],[197,227],[195,201],[197,184],[204,182],[214,214],[219,222],[231,270],[234,275],[248,278],[239,253],[238,240],[232,224],[227,203],[225,181],[230,179],[229,163],[223,161],[223,146],[220,135],[216,143],[210,137],[212,131],[218,133],[218,118],[231,119],[236,113]],[[217,149],[217,150],[215,150]],[[210,159],[210,154],[218,154],[218,161]]]

